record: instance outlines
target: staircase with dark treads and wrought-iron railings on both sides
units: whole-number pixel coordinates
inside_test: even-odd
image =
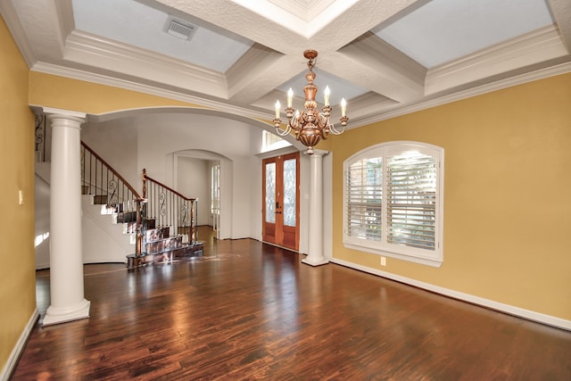
[[[203,253],[203,243],[196,239],[195,199],[186,198],[169,186],[147,177],[145,170],[143,195],[139,195],[133,186],[83,142],[81,161],[82,194],[92,207],[88,209],[84,205],[87,223],[99,223],[95,221],[100,219],[92,215],[96,210],[100,216],[108,219],[107,228],[103,227],[103,230],[112,229],[113,226],[119,228],[120,234],[126,238],[114,240],[121,247],[128,243],[129,251],[123,258],[126,258],[129,269]],[[147,192],[147,187],[150,192]],[[91,219],[89,216],[92,216]],[[92,238],[85,236],[85,231],[84,228],[84,240]],[[102,239],[102,249],[105,244],[109,244],[109,238]]]

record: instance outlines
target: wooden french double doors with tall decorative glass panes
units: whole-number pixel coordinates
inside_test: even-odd
[[[299,249],[300,153],[262,161],[262,240]]]

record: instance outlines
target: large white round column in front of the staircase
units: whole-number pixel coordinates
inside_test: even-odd
[[[81,123],[86,114],[44,109],[52,127],[50,306],[43,325],[89,317],[81,253]]]

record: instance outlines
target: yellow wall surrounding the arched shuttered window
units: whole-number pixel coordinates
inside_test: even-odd
[[[439,269],[343,247],[343,161],[394,140],[445,150]],[[333,151],[335,258],[571,320],[571,74],[351,129]]]

